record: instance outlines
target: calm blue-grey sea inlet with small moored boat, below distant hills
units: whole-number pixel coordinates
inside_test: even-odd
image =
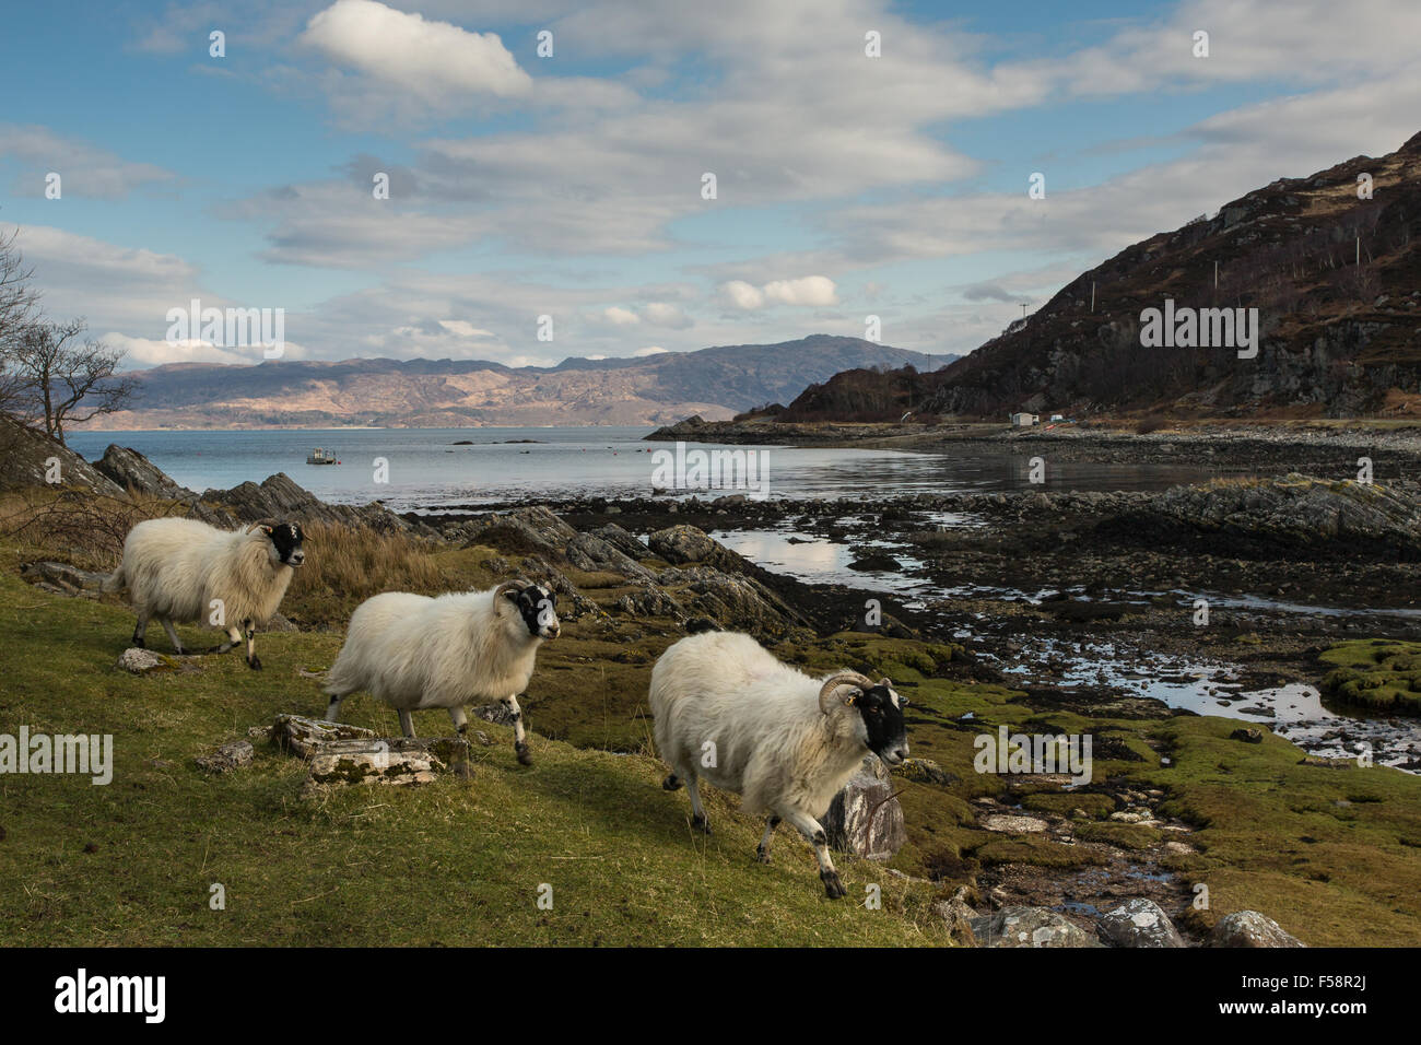
[[[196,491],[261,482],[286,472],[333,503],[384,500],[396,510],[512,498],[638,496],[652,489],[654,458],[672,444],[642,442],[649,428],[378,428],[242,432],[75,432],[88,459],[111,442],[132,446]],[[537,442],[514,442],[536,439]],[[472,445],[455,445],[468,441]],[[307,465],[321,446],[340,465]],[[713,449],[713,446],[692,448]],[[1009,455],[905,454],[878,449],[726,446],[764,451],[772,498],[892,496],[919,491],[1032,488],[1026,459]],[[388,462],[388,482],[377,478]],[[1205,478],[1177,466],[1060,465],[1044,489],[1158,489]],[[689,496],[696,491],[686,491]],[[722,491],[712,491],[716,495]],[[726,491],[729,492],[729,491]],[[703,491],[701,493],[705,493]]]

